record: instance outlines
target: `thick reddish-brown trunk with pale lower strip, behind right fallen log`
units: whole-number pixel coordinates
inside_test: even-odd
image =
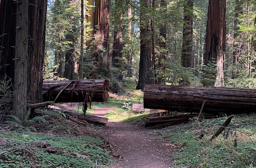
[[[215,86],[224,86],[226,0],[209,0],[204,64],[217,61]]]

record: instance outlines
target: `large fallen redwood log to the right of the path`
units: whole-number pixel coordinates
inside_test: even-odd
[[[204,114],[256,111],[256,89],[145,85],[144,108]]]

